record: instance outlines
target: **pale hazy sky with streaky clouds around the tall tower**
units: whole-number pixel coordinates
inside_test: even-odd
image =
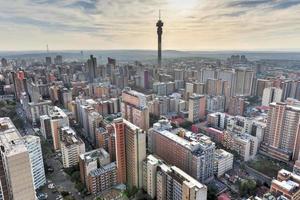
[[[0,50],[300,48],[300,0],[0,0]]]

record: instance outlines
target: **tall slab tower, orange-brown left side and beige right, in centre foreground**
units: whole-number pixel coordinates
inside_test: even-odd
[[[113,123],[118,183],[126,183],[129,188],[141,188],[142,163],[146,158],[146,133],[122,118],[115,119]]]

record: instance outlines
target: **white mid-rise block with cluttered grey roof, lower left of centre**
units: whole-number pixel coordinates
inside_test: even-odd
[[[63,167],[69,168],[78,164],[79,155],[85,152],[85,144],[76,132],[68,127],[61,128],[61,157],[63,161]]]

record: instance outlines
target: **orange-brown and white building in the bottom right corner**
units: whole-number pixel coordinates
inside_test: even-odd
[[[282,169],[272,180],[270,192],[277,195],[277,199],[296,200],[300,198],[299,184],[300,176]]]

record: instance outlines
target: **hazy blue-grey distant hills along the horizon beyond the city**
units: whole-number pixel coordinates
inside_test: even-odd
[[[54,57],[62,55],[64,59],[86,59],[93,54],[101,60],[107,57],[112,57],[118,61],[143,61],[157,58],[155,50],[84,50],[81,54],[80,50],[66,51],[50,51],[47,54],[45,51],[0,51],[0,57],[6,58],[44,58],[46,56]],[[205,57],[227,59],[233,54],[245,55],[249,60],[300,60],[300,52],[280,52],[280,51],[163,51],[163,58],[179,58],[179,57]]]

